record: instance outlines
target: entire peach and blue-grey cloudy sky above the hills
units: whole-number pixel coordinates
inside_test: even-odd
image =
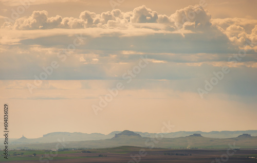
[[[256,5],[1,0],[9,138],[256,130]]]

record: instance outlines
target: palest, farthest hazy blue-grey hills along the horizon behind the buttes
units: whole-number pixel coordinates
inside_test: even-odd
[[[43,135],[43,137],[35,138],[35,139],[27,139],[26,137],[22,137],[20,139],[12,139],[10,140],[11,144],[27,144],[27,143],[50,143],[50,142],[58,142],[58,140],[62,141],[86,141],[86,140],[104,140],[111,139],[113,137],[119,137],[121,135],[130,136],[130,132],[128,131],[114,131],[109,133],[108,135],[100,134],[100,133],[69,133],[69,132],[54,132]],[[141,137],[155,137],[156,133],[142,133],[142,132],[132,132],[134,136]],[[235,138],[239,135],[250,134],[251,136],[257,136],[257,130],[248,130],[248,131],[212,131],[212,132],[187,132],[187,131],[179,131],[173,133],[163,134],[164,138],[177,138],[177,137],[186,137],[194,134],[200,134],[203,137],[208,138]]]

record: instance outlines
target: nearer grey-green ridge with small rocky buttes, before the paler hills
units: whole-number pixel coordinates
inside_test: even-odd
[[[50,134],[51,135],[51,134]],[[55,134],[54,134],[55,135]],[[49,135],[48,135],[49,136]],[[60,136],[60,135],[59,135]],[[44,136],[46,137],[46,136]],[[142,137],[132,131],[123,131],[115,134],[114,137],[104,140],[87,140],[87,141],[67,141],[58,140],[59,142],[51,143],[26,143],[12,144],[12,149],[35,149],[35,150],[51,150],[56,147],[62,150],[66,149],[97,149],[97,148],[113,148],[120,146],[136,146],[143,148],[170,148],[170,149],[256,149],[257,136],[250,134],[238,135],[234,138],[207,138],[201,134],[193,134],[186,137],[163,138],[158,137]],[[18,139],[19,140],[19,139]],[[20,139],[21,140],[21,139]],[[65,144],[65,146],[61,145]],[[57,150],[58,150],[57,149]]]

